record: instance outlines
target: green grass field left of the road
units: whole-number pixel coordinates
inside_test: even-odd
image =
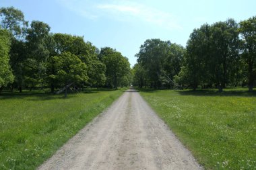
[[[122,92],[1,93],[0,169],[35,169]]]

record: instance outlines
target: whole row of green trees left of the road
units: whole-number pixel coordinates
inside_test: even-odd
[[[52,34],[44,22],[28,26],[13,7],[2,7],[0,16],[0,89],[129,85],[130,64],[120,52],[98,50],[82,36]]]

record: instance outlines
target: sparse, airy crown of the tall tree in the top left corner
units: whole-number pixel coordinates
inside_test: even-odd
[[[24,19],[24,14],[14,7],[1,7],[1,28],[9,30],[13,36],[19,36],[26,30],[28,22]]]

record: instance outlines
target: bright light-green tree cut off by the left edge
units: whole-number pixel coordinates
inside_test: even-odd
[[[13,82],[13,74],[9,65],[10,50],[9,32],[0,29],[0,91],[3,86]]]

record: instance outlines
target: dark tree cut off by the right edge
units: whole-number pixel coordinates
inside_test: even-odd
[[[243,38],[243,60],[247,64],[248,88],[253,91],[256,79],[256,17],[240,22],[239,31]]]

